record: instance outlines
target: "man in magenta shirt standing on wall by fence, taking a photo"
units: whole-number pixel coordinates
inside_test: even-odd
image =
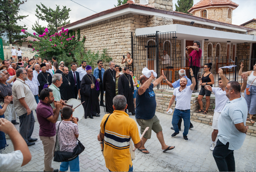
[[[192,48],[192,52],[189,54],[188,50],[186,50],[186,56],[189,59],[189,65],[190,64],[190,57],[192,57],[192,70],[193,73],[195,75],[195,89],[193,92],[198,92],[198,72],[200,69],[200,59],[202,56],[202,50],[199,49],[201,47],[201,43],[198,40],[194,41],[194,45],[193,46],[187,46],[186,49],[190,49]],[[189,75],[189,79],[192,80],[192,77]]]

